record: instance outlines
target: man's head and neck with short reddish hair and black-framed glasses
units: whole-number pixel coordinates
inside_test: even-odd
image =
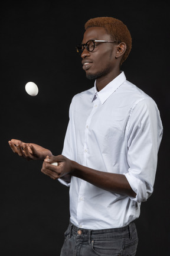
[[[120,74],[120,65],[129,55],[132,39],[128,28],[115,18],[93,18],[87,21],[85,29],[77,52],[81,54],[86,77],[97,79],[97,85],[102,84],[102,88]]]

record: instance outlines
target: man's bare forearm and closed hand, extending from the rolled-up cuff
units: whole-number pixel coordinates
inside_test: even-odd
[[[51,165],[52,162],[58,162],[58,166]],[[136,193],[130,187],[125,175],[102,172],[84,167],[63,155],[45,158],[41,171],[53,178],[53,180],[58,178],[65,180],[65,175],[67,175],[67,178],[69,177],[68,175],[71,175],[104,190],[136,197]]]

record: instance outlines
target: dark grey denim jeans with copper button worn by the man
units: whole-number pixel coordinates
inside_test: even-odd
[[[116,229],[89,230],[72,223],[65,232],[60,256],[134,256],[138,245],[135,223]]]

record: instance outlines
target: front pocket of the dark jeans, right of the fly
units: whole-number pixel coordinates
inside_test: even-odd
[[[99,256],[121,256],[122,239],[93,240],[91,248]]]

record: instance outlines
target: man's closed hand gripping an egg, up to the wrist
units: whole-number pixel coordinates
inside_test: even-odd
[[[57,162],[58,165],[52,165],[53,162]],[[41,172],[48,175],[53,180],[63,177],[63,180],[70,181],[70,175],[68,174],[71,174],[72,171],[71,163],[72,161],[63,155],[47,156],[44,159]]]

